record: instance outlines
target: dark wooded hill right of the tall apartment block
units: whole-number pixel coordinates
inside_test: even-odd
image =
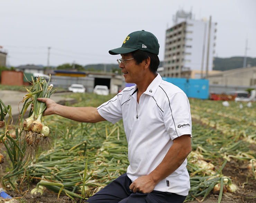
[[[213,70],[231,70],[243,68],[244,57],[218,58],[213,61]],[[246,66],[256,66],[256,58],[247,57]]]

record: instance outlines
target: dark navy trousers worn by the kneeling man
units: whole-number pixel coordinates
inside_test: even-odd
[[[152,191],[150,193],[133,193],[129,186],[130,178],[125,174],[91,196],[88,203],[182,203],[186,196],[170,192]]]

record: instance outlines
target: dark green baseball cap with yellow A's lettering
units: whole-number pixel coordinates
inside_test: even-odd
[[[159,54],[159,43],[155,35],[145,30],[130,33],[123,42],[122,46],[109,50],[109,54],[127,54],[136,50],[143,50],[153,54]]]

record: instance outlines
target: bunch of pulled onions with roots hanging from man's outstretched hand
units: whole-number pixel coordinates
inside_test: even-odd
[[[50,77],[51,78],[51,77]],[[50,81],[50,80],[49,80]],[[51,140],[49,138],[50,128],[43,124],[43,112],[46,109],[46,104],[37,101],[37,98],[49,98],[56,90],[51,91],[52,86],[49,86],[49,81],[38,77],[33,81],[33,86],[27,89],[28,93],[23,97],[24,113],[30,104],[33,104],[33,109],[30,110],[29,117],[23,122],[23,131],[21,133],[24,143],[27,143],[25,159],[34,157],[39,146],[42,150],[49,149]],[[30,101],[28,101],[30,99]],[[26,142],[25,142],[26,141]]]

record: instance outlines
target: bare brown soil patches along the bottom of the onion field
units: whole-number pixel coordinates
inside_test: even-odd
[[[255,148],[255,146],[254,146]],[[2,164],[2,170],[8,167],[8,162]],[[252,171],[246,168],[246,163],[243,161],[231,160],[222,170],[222,173],[226,176],[231,177],[232,182],[238,186],[236,193],[223,193],[221,203],[256,203],[256,179],[253,178]],[[57,198],[57,194],[45,190],[43,195],[40,193],[36,195],[30,194],[31,189],[35,188],[36,182],[29,185],[29,190],[27,190],[27,183],[24,182],[20,193],[16,191],[8,190],[7,193],[12,197],[20,197],[20,202],[22,203],[84,203],[85,200],[75,199],[72,200],[66,195],[61,195]],[[212,192],[206,197],[203,203],[217,203],[218,194],[213,194]],[[191,203],[200,202],[202,197],[198,197],[198,200],[190,201]]]

